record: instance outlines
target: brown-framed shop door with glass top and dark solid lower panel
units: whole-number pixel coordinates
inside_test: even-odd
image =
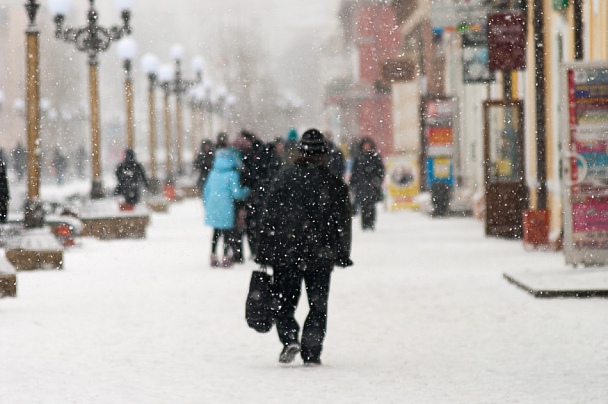
[[[525,184],[524,105],[503,100],[484,103],[486,235],[523,237],[523,212],[529,195]]]

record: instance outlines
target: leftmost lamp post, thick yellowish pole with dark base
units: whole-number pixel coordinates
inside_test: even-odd
[[[29,17],[26,30],[26,130],[27,130],[27,199],[25,227],[39,228],[44,224],[40,206],[40,31],[36,14],[40,4],[29,0],[25,9]]]

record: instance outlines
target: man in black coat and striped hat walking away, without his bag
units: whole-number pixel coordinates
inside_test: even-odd
[[[305,365],[320,365],[327,327],[327,301],[335,265],[350,260],[351,212],[346,184],[327,165],[323,134],[310,129],[298,145],[300,157],[270,185],[260,226],[256,262],[272,266],[279,308],[276,327],[283,350],[279,362],[301,353]],[[310,311],[300,326],[294,314],[302,281]]]

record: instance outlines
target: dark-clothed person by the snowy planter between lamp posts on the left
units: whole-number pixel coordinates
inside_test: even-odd
[[[141,187],[150,187],[143,166],[135,159],[132,149],[125,151],[125,159],[116,168],[116,179],[118,185],[114,191],[115,195],[124,197],[125,207],[132,209],[140,201]]]

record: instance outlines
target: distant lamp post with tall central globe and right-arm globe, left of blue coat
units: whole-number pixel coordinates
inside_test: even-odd
[[[182,98],[184,93],[190,88],[200,83],[203,79],[203,61],[202,59],[195,59],[197,62],[193,64],[195,69],[196,79],[186,80],[182,76],[182,61],[184,59],[184,47],[180,44],[174,44],[171,47],[171,57],[175,61],[175,77],[172,83],[172,90],[175,94],[175,129],[177,137],[177,173],[178,175],[183,174],[183,162],[182,162],[182,136],[183,136],[183,106]],[[198,69],[198,70],[197,70]]]

